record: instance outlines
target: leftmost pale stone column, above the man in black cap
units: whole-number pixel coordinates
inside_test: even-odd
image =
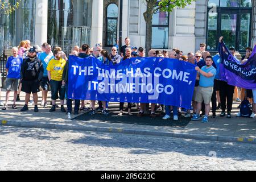
[[[47,42],[48,1],[36,1],[35,44]]]

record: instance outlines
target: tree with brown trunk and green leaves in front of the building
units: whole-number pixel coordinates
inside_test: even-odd
[[[178,7],[185,7],[191,5],[195,0],[144,0],[146,1],[147,10],[143,13],[146,21],[146,53],[151,49],[152,43],[152,17],[153,14],[162,12],[171,12]]]

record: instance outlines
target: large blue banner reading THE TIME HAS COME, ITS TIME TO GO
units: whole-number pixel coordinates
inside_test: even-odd
[[[140,57],[105,65],[92,56],[70,56],[68,67],[68,98],[191,107],[196,80],[191,63]]]

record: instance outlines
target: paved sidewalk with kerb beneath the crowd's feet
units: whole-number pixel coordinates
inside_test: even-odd
[[[13,95],[13,93],[11,93],[11,95]],[[5,92],[2,91],[2,101],[4,99],[4,96]],[[19,101],[16,104],[18,109],[21,109],[24,104],[23,93],[20,98],[22,101]],[[13,100],[12,96],[10,100]],[[39,101],[41,101],[40,94]],[[20,113],[19,110],[13,109],[8,109],[6,111],[0,110],[0,125],[18,127],[39,127],[60,130],[84,130],[126,134],[156,135],[175,138],[214,140],[221,142],[256,143],[256,119],[237,118],[236,113],[238,112],[238,102],[234,103],[236,104],[234,104],[232,119],[220,117],[216,119],[210,118],[209,123],[191,121],[188,123],[187,126],[135,125],[120,122],[102,122],[97,119],[90,119],[90,121],[71,121],[68,120],[65,113],[60,112],[60,109],[57,109],[57,111],[54,113],[49,113],[48,110],[50,109],[50,107],[44,109],[42,106],[39,106],[39,113],[34,113],[34,106],[29,106],[30,110],[25,113]],[[72,117],[75,116],[72,115]]]

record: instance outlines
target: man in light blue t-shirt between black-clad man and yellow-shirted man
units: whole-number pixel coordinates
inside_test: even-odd
[[[44,107],[47,107],[47,94],[49,90],[49,79],[48,79],[48,71],[47,71],[47,66],[50,60],[54,58],[53,53],[52,53],[52,47],[49,44],[46,44],[44,46],[44,51],[42,52],[39,56],[39,60],[43,63],[44,67],[44,75],[43,75],[43,80],[41,82],[41,87],[43,89],[42,91],[42,103],[41,105]]]

